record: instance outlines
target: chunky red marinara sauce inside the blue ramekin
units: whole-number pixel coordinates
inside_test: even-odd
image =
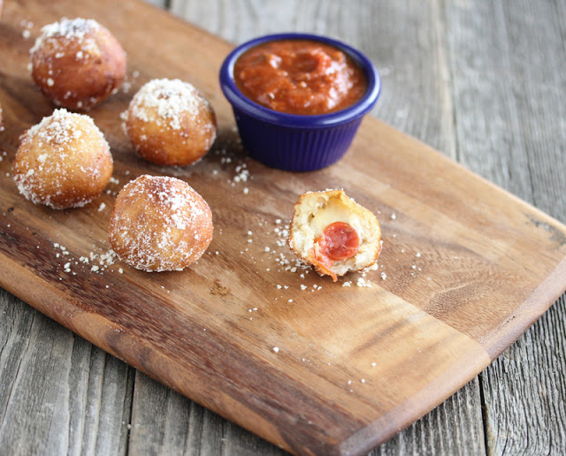
[[[233,70],[250,100],[287,114],[343,110],[367,90],[362,69],[340,49],[310,40],[264,42],[244,52]]]

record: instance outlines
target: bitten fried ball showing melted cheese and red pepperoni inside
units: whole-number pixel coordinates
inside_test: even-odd
[[[349,270],[363,270],[377,261],[381,229],[371,211],[343,190],[312,192],[294,205],[288,243],[295,255],[336,282]]]

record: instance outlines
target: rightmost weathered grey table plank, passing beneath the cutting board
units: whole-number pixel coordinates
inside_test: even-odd
[[[458,151],[464,163],[566,220],[566,65],[561,2],[448,2]],[[566,448],[565,297],[481,376],[490,454]]]

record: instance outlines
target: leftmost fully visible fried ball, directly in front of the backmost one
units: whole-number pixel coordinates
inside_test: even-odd
[[[92,118],[65,109],[19,137],[14,180],[19,193],[53,209],[84,206],[111,178],[108,142]]]

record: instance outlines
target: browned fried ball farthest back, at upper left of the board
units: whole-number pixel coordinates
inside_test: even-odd
[[[126,52],[94,19],[61,19],[43,27],[30,54],[35,85],[70,110],[101,103],[126,75]]]

